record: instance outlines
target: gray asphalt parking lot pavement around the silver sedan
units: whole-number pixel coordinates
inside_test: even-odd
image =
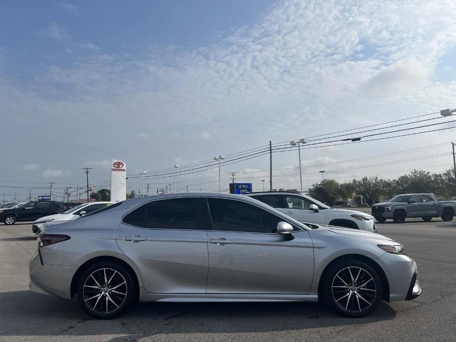
[[[355,209],[356,210],[356,209]],[[378,224],[418,264],[420,297],[350,319],[314,303],[140,303],[110,321],[29,291],[31,224],[0,224],[0,341],[456,341],[456,220]]]

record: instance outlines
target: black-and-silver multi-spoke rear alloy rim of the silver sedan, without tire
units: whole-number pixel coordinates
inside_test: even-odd
[[[127,298],[127,282],[116,270],[98,269],[84,282],[83,297],[92,311],[108,314],[118,310]]]

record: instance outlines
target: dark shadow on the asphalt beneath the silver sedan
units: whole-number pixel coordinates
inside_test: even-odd
[[[31,291],[0,293],[0,336],[119,335],[110,341],[157,334],[272,332],[350,326],[392,320],[381,303],[372,314],[348,318],[317,303],[139,303],[120,317],[98,321],[75,298],[63,300]],[[121,337],[120,337],[121,335]],[[131,338],[131,339],[130,339]]]

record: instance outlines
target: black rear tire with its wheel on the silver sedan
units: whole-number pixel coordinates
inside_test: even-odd
[[[107,286],[104,272],[108,280]],[[133,305],[138,298],[137,292],[132,276],[124,266],[104,261],[90,266],[81,274],[77,285],[77,300],[90,316],[111,319]]]

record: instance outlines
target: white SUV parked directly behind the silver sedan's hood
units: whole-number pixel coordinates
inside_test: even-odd
[[[377,232],[374,216],[361,211],[334,209],[312,197],[293,192],[257,192],[245,194],[303,223],[326,224]]]

